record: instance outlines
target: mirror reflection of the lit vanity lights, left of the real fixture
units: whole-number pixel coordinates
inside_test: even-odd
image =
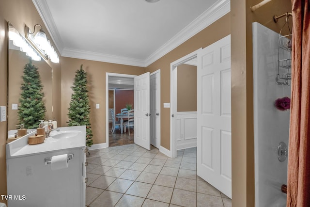
[[[23,36],[9,23],[9,39],[12,40],[13,45],[18,47],[20,51],[25,52],[27,56],[34,61],[41,61],[40,55],[31,47]]]

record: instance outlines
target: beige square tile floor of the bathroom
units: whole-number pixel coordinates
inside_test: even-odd
[[[128,144],[89,151],[87,207],[231,207],[196,175],[196,147],[169,158]]]

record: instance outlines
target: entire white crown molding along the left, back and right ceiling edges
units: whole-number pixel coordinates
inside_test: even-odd
[[[154,63],[159,58],[166,55],[168,52],[178,47],[186,40],[201,32],[204,28],[215,22],[220,17],[230,12],[230,0],[218,0],[208,10],[198,16],[190,24],[188,24],[183,30],[173,36],[167,43],[158,48],[145,60],[121,57],[116,55],[103,54],[98,52],[91,52],[85,50],[78,50],[73,48],[64,48],[62,39],[59,35],[54,20],[51,18],[51,14],[46,0],[32,0],[36,9],[38,10],[44,24],[47,27],[51,38],[57,47],[58,51],[63,57],[79,58],[92,61],[100,61],[114,64],[126,64],[140,67],[147,67]]]

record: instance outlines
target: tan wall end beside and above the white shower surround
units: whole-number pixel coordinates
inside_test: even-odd
[[[232,0],[232,184],[233,207],[254,207],[252,22],[279,32],[274,15],[291,12],[291,0],[273,0],[255,12],[261,0]]]

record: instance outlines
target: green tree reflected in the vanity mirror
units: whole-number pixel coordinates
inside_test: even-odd
[[[31,60],[24,66],[22,79],[20,104],[17,111],[18,121],[25,128],[37,128],[39,120],[43,120],[45,117],[46,108],[43,102],[43,85],[38,67],[34,66]]]

